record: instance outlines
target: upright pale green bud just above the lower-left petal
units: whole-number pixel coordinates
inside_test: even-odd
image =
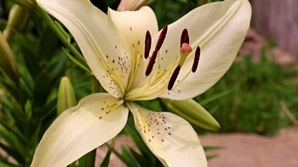
[[[67,77],[60,80],[57,97],[57,115],[60,115],[67,108],[76,105],[75,91],[72,83]]]

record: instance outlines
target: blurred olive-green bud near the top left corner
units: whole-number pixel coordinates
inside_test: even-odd
[[[9,11],[8,21],[3,35],[9,41],[13,38],[14,30],[22,31],[28,22],[29,11],[27,8],[21,7],[17,4],[13,5]]]

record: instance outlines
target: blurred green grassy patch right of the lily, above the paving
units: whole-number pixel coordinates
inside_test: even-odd
[[[222,126],[220,132],[256,132],[272,135],[291,124],[281,109],[285,102],[298,118],[298,83],[293,66],[283,67],[262,51],[259,62],[251,56],[236,61],[224,77],[196,101],[230,90],[223,98],[202,104]]]

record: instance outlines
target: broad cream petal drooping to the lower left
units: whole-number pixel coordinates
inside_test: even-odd
[[[44,134],[31,167],[66,167],[114,138],[128,116],[128,108],[121,103],[114,109],[107,107],[118,101],[107,93],[97,93],[65,110]]]

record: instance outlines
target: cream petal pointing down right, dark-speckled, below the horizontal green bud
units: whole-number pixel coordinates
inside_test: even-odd
[[[187,121],[170,112],[154,112],[132,103],[130,107],[144,142],[164,166],[207,167],[199,137]]]

